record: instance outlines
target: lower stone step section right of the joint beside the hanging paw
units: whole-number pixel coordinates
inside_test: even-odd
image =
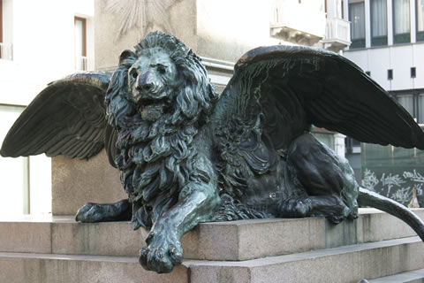
[[[424,244],[411,237],[242,262],[197,262],[189,265],[190,282],[358,282],[420,269],[423,252]]]

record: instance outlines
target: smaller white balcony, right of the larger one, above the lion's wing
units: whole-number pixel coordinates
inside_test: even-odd
[[[322,43],[326,50],[335,52],[351,45],[351,23],[345,19],[327,19],[325,38]]]

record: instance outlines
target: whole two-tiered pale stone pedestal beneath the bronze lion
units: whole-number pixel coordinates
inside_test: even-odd
[[[424,217],[423,209],[415,211]],[[130,222],[0,218],[0,231],[2,282],[390,282],[392,277],[409,282],[424,277],[424,243],[402,221],[372,209],[360,209],[360,218],[337,226],[324,218],[203,223],[183,237],[185,259],[170,274],[142,269],[138,252],[147,231],[134,232]]]

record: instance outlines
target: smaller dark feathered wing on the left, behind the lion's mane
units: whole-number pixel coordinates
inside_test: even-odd
[[[105,143],[113,148],[114,131],[108,129],[104,106],[109,83],[110,74],[94,72],[51,82],[11,126],[1,155],[82,159],[95,156]]]

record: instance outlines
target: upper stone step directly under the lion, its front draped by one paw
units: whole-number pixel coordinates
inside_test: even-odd
[[[0,220],[0,231],[0,251],[98,256],[137,256],[147,235],[130,222],[81,224],[71,216]],[[185,258],[239,261],[413,235],[398,218],[361,209],[337,226],[324,218],[204,223],[184,236],[183,248]]]

